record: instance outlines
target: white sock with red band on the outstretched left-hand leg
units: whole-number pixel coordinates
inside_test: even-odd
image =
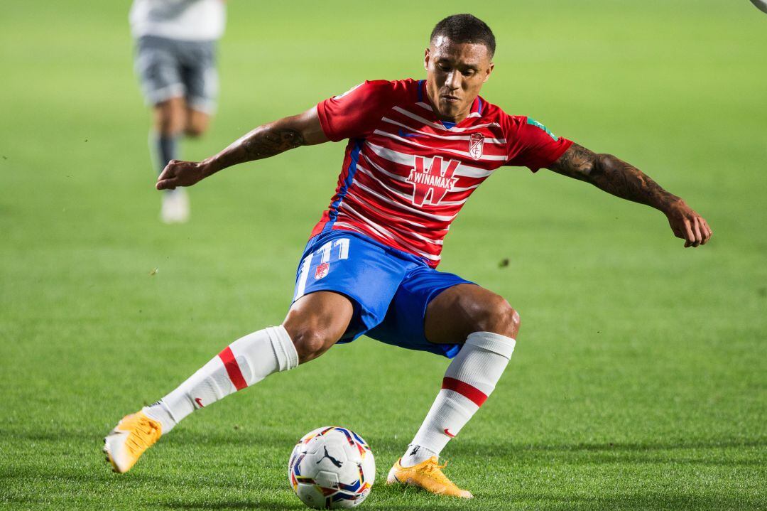
[[[166,434],[194,410],[296,366],[298,353],[288,331],[281,325],[265,328],[232,342],[175,391],[142,411],[158,420]]]

